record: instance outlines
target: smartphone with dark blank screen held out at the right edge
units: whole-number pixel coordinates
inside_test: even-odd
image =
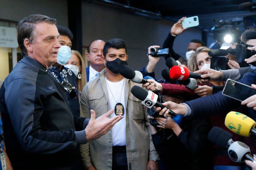
[[[227,79],[222,94],[242,102],[248,97],[255,95],[256,89],[235,80]]]

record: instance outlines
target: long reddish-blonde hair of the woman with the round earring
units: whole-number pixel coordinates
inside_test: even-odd
[[[81,71],[79,74],[81,74],[81,79],[77,79],[77,84],[78,84],[78,91],[79,93],[81,93],[86,84],[86,72],[85,72],[84,60],[79,51],[71,50],[71,54],[75,54],[79,58],[80,68],[81,68]]]

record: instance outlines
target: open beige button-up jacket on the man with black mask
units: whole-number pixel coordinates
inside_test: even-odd
[[[90,118],[90,111],[85,106],[93,109],[96,118],[107,113],[108,90],[105,81],[105,69],[97,79],[88,82],[81,94],[81,116]],[[126,84],[127,84],[126,79]],[[149,160],[158,160],[158,153],[151,138],[151,129],[147,118],[146,108],[141,101],[131,94],[134,85],[128,81],[125,86],[126,108],[126,152],[129,170],[146,170]],[[112,169],[112,131],[87,144],[80,145],[82,161],[85,168],[93,165],[96,170]]]

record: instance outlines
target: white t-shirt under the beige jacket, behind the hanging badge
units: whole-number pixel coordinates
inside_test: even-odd
[[[125,137],[125,134],[126,134],[125,133],[126,108],[125,108],[125,100],[124,100],[124,90],[125,90],[124,88],[125,88],[125,85],[128,84],[128,82],[126,80],[127,79],[124,78],[123,80],[121,80],[119,82],[111,82],[111,81],[108,81],[106,78],[107,89],[108,89],[108,100],[109,100],[108,109],[115,110],[115,106],[117,103],[121,103],[124,107],[124,118],[121,119],[119,122],[117,122],[114,125],[114,127],[111,129],[112,130],[112,145],[113,146],[126,145],[126,137]],[[115,112],[113,112],[110,117],[113,118],[114,116],[116,116]]]

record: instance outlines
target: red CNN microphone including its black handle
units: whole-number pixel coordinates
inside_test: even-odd
[[[200,74],[189,72],[188,68],[174,65],[170,69],[170,78],[174,80],[187,80],[188,78],[204,79]]]

